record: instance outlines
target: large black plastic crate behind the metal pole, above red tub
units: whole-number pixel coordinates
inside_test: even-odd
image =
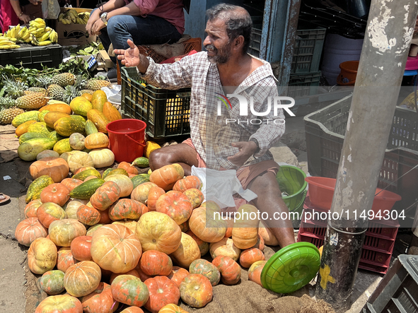
[[[351,102],[352,95],[349,95],[303,118],[311,175],[337,178]],[[416,112],[396,107],[378,181],[379,188],[402,196],[402,200],[395,203],[395,209],[417,206],[418,170],[412,170],[418,165],[417,122]]]

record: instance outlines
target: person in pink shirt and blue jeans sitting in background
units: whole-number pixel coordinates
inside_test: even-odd
[[[113,49],[128,49],[127,40],[135,45],[173,44],[185,30],[183,7],[182,0],[110,0],[91,12],[86,31],[99,35],[106,51],[111,43]],[[115,77],[114,68],[108,78]]]

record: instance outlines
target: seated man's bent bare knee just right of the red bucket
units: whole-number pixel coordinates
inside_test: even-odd
[[[196,154],[196,150],[186,143],[166,146],[151,152],[151,155],[149,155],[149,167],[151,167],[151,170],[156,170],[164,165],[178,163],[185,170],[185,175],[189,176],[192,172],[192,165],[197,167],[199,164]]]

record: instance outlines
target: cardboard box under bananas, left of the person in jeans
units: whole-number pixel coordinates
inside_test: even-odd
[[[65,12],[69,8],[61,8]],[[91,8],[74,8],[77,13],[91,12]],[[84,24],[63,24],[57,20],[58,43],[62,46],[86,45],[97,40],[97,36],[89,36]]]

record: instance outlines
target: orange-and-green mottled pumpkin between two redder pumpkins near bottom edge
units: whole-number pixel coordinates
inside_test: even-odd
[[[141,307],[149,299],[148,288],[141,280],[132,275],[117,276],[112,285],[113,299],[126,305]]]

